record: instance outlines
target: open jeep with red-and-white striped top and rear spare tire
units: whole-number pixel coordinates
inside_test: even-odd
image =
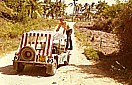
[[[22,35],[13,69],[22,72],[25,65],[46,67],[46,74],[54,75],[59,64],[69,63],[66,40],[53,31],[30,31]]]

